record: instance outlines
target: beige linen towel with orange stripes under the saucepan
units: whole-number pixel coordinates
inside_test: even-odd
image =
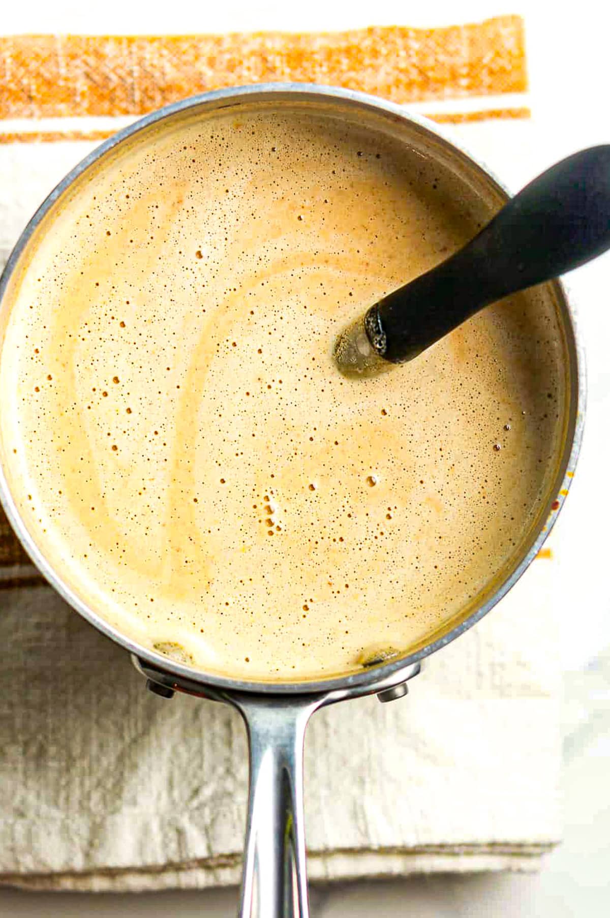
[[[0,254],[94,141],[175,98],[272,79],[365,89],[464,135],[475,123],[472,145],[500,171],[517,143],[526,162],[532,142],[517,17],[336,35],[0,38]],[[547,551],[497,610],[428,661],[407,699],[314,716],[313,879],[537,868],[559,838],[553,575]],[[148,694],[127,655],[41,582],[2,517],[0,604],[0,881],[237,882],[247,780],[238,715]]]

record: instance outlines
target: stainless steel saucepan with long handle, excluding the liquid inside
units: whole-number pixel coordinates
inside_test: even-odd
[[[448,140],[424,118],[409,115],[401,106],[370,95],[308,84],[263,84],[224,89],[199,95],[162,108],[119,131],[66,175],[28,223],[12,252],[0,280],[0,334],[6,318],[8,294],[23,270],[40,234],[52,228],[57,208],[79,183],[95,181],[104,163],[119,148],[137,145],[160,122],[180,122],[214,110],[234,110],[238,115],[250,106],[299,106],[303,117],[325,114],[356,120],[372,132],[390,134],[405,150],[432,158],[437,168],[451,176],[465,205],[478,211],[481,222],[503,205],[508,193],[480,162]],[[120,633],[102,619],[93,606],[76,596],[45,556],[44,548],[28,532],[6,479],[6,457],[0,442],[0,499],[17,535],[34,563],[51,585],[87,621],[131,655],[148,680],[148,687],[164,698],[175,691],[187,692],[231,704],[243,716],[250,745],[250,798],[244,852],[242,918],[288,918],[309,914],[303,830],[303,739],[311,714],[335,701],[377,693],[389,701],[406,694],[407,680],[419,672],[420,661],[453,641],[479,621],[502,599],[536,556],[557,518],[570,487],[582,437],[584,378],[582,353],[570,303],[559,282],[545,286],[552,297],[564,336],[568,404],[562,454],[544,507],[532,530],[514,555],[514,563],[501,577],[490,577],[488,588],[461,619],[453,620],[430,643],[389,662],[363,669],[354,675],[320,681],[293,683],[245,682],[208,675],[174,662]],[[400,370],[398,371],[400,372]],[[3,465],[5,469],[3,470]],[[381,611],[380,611],[381,614]]]

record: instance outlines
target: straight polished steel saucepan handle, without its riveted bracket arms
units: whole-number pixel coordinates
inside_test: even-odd
[[[240,918],[309,918],[303,739],[321,699],[232,699],[250,745]]]

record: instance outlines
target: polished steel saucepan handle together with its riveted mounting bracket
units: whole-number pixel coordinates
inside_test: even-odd
[[[380,677],[362,689],[313,692],[298,698],[248,692],[217,692],[192,680],[176,678],[137,656],[133,665],[147,686],[171,698],[183,691],[231,704],[243,717],[250,750],[250,788],[243,849],[239,918],[308,918],[309,897],[303,825],[303,742],[311,714],[335,701],[371,695],[380,701],[401,699],[419,663],[396,676]]]

